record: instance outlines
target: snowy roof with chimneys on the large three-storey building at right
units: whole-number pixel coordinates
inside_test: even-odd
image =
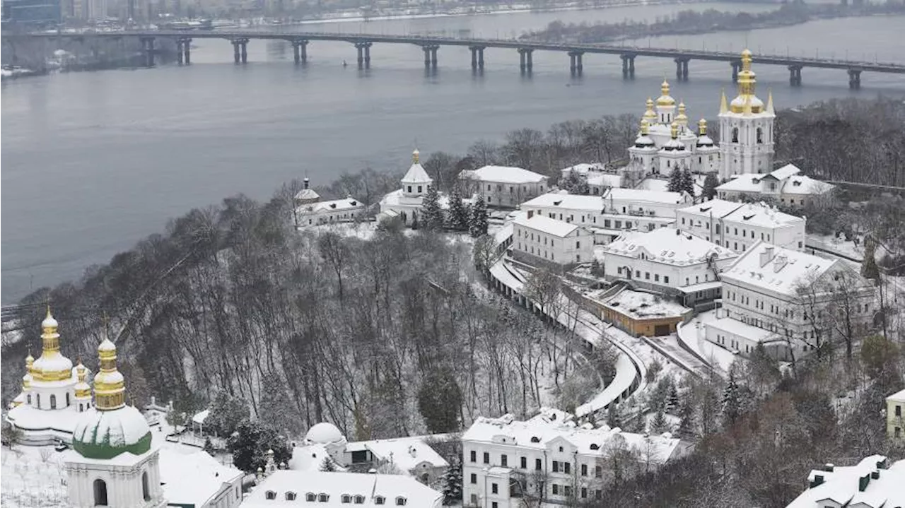
[[[723,270],[722,280],[762,287],[786,296],[795,296],[799,283],[816,279],[833,268],[838,259],[824,259],[798,250],[757,241]]]

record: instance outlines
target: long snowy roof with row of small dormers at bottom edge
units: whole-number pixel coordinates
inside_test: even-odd
[[[268,492],[275,494],[273,499],[267,499]],[[294,493],[298,498],[287,499],[287,493]],[[300,506],[306,504],[308,494],[318,496],[316,504],[322,508],[349,506],[348,498],[343,503],[344,495],[353,501],[361,496],[363,503],[354,503],[356,506],[379,506],[378,497],[383,498],[382,505],[396,506],[396,497],[404,497],[405,506],[432,508],[439,507],[443,499],[443,494],[407,475],[277,470],[248,494],[242,507]],[[325,501],[320,501],[320,494],[326,494]]]

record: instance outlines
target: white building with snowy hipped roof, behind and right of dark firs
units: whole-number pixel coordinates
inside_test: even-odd
[[[549,189],[547,177],[520,167],[485,165],[465,170],[459,179],[481,195],[487,206],[514,208],[520,202],[545,193]]]

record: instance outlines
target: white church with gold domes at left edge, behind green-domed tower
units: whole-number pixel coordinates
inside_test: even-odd
[[[10,404],[6,422],[20,431],[25,445],[50,445],[72,440],[72,430],[83,411],[90,409],[88,369],[75,368],[60,352],[60,334],[50,308],[42,324],[41,356],[25,358],[22,392]]]

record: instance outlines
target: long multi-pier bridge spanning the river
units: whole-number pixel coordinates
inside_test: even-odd
[[[704,50],[680,50],[666,48],[643,48],[637,46],[621,46],[615,44],[593,44],[575,42],[533,42],[515,39],[472,39],[455,37],[433,37],[428,35],[386,35],[376,33],[304,33],[273,30],[228,30],[228,31],[122,31],[98,33],[28,33],[21,35],[5,35],[7,42],[20,38],[49,39],[119,39],[122,37],[138,38],[142,42],[146,64],[154,65],[155,41],[167,39],[176,42],[176,54],[180,63],[191,62],[190,43],[192,39],[225,39],[233,44],[233,60],[235,63],[248,61],[247,46],[252,39],[284,40],[291,42],[294,60],[297,64],[308,61],[308,44],[311,41],[348,42],[357,50],[358,68],[368,69],[371,65],[371,46],[375,43],[413,44],[424,51],[424,67],[436,69],[437,51],[441,46],[465,46],[472,52],[472,70],[483,71],[484,50],[487,48],[514,49],[519,53],[519,68],[522,73],[530,73],[533,67],[532,54],[535,51],[566,52],[569,56],[569,70],[572,75],[581,75],[585,53],[603,53],[618,55],[622,59],[623,78],[634,78],[634,60],[637,57],[668,58],[676,64],[676,79],[688,80],[689,61],[727,61],[732,71],[732,80],[737,80],[741,70],[741,58],[736,52],[711,52]],[[805,67],[818,69],[839,69],[846,71],[849,77],[849,88],[861,88],[861,73],[887,72],[905,74],[905,64],[890,62],[870,62],[853,60],[836,60],[826,58],[806,58],[758,54],[755,60],[760,65],[782,65],[789,71],[789,84],[796,87],[802,84],[802,69]]]

